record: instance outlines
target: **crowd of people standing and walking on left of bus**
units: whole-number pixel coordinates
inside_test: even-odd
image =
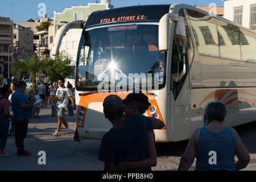
[[[0,157],[10,156],[5,153],[5,146],[7,138],[11,135],[15,135],[17,154],[19,156],[31,155],[29,151],[24,150],[28,121],[31,118],[39,118],[42,105],[49,103],[47,98],[51,100],[54,108],[57,107],[58,111],[57,130],[53,135],[59,135],[58,132],[62,123],[67,128],[65,133],[72,131],[68,127],[64,114],[68,100],[70,99],[73,105],[75,105],[75,101],[72,97],[72,85],[68,83],[69,88],[66,88],[64,82],[63,78],[59,78],[57,88],[53,86],[52,82],[49,86],[47,83],[41,82],[36,90],[30,90],[27,96],[25,94],[26,82],[24,81],[8,81],[6,85],[2,86],[0,96]]]

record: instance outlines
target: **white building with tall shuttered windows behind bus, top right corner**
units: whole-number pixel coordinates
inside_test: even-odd
[[[256,0],[222,0],[224,18],[256,30]]]

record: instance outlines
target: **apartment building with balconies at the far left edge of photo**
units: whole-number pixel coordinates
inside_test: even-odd
[[[12,62],[12,54],[10,53],[13,48],[13,20],[10,18],[0,17],[0,74],[3,77],[8,77],[8,64]],[[9,52],[10,50],[10,52]],[[9,67],[11,68],[11,67]],[[11,74],[10,74],[11,75]]]

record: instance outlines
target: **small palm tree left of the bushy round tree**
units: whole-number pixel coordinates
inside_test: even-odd
[[[14,73],[15,75],[20,75],[21,72],[27,71],[31,73],[32,78],[32,88],[36,88],[36,72],[40,70],[40,62],[38,56],[34,53],[31,57],[27,56],[28,59],[22,59],[20,62],[14,63]]]

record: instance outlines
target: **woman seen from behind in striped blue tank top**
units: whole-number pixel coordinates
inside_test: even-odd
[[[196,158],[196,171],[228,170],[245,168],[250,155],[238,133],[224,126],[226,107],[221,102],[210,102],[206,108],[208,126],[197,129],[188,142],[180,159],[179,170],[188,170]],[[237,155],[238,162],[234,162]]]

